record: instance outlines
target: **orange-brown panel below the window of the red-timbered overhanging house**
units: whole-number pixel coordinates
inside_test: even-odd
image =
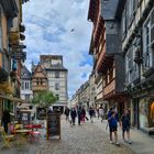
[[[103,88],[103,96],[107,96],[108,94],[112,92],[116,89],[116,79],[113,79],[111,82],[107,85],[107,87]]]

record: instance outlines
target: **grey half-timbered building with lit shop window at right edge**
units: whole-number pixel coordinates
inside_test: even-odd
[[[154,132],[154,1],[125,0],[122,12],[125,92],[132,125]]]

